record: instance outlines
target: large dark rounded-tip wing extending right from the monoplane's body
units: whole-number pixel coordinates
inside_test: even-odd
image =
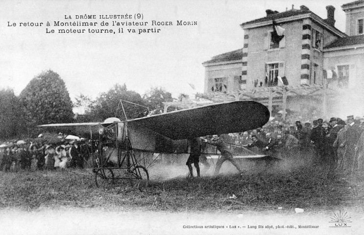
[[[232,101],[128,120],[172,140],[237,133],[263,126],[270,114],[255,101]]]

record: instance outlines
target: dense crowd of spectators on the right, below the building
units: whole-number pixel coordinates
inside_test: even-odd
[[[303,120],[271,118],[262,128],[231,135],[236,144],[277,158],[310,158],[345,175],[360,167],[364,153],[364,118]]]

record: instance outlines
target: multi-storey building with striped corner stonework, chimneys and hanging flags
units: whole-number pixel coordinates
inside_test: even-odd
[[[335,27],[333,6],[326,7],[326,19],[302,5],[280,13],[266,10],[266,17],[241,24],[243,48],[203,63],[205,94],[235,93],[270,110],[272,105],[301,110],[307,103],[327,106],[333,96],[326,97],[327,89],[335,94],[341,85],[359,88],[364,84],[364,0],[341,7],[346,34]]]

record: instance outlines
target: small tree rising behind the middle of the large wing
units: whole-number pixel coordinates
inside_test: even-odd
[[[163,112],[164,104],[163,102],[172,102],[172,94],[165,91],[161,87],[152,87],[150,90],[146,91],[143,95],[146,100],[146,104],[152,113],[158,114]]]

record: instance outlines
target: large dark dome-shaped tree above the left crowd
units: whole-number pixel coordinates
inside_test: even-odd
[[[60,76],[49,70],[34,77],[20,94],[27,124],[72,122],[72,101]]]

